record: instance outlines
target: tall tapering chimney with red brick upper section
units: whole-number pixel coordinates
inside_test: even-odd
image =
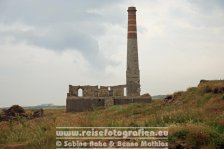
[[[136,8],[128,7],[128,41],[127,41],[127,96],[140,96],[140,73],[138,64],[138,43],[136,26]]]

